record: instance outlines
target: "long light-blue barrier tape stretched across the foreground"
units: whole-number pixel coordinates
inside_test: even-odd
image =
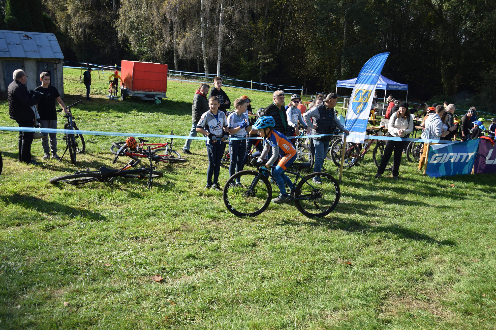
[[[15,127],[15,126],[0,126],[0,131],[11,131],[11,132],[38,132],[38,133],[60,133],[60,134],[82,134],[82,135],[106,135],[106,136],[142,136],[142,137],[158,137],[158,138],[174,138],[174,139],[190,139],[190,140],[208,140],[206,137],[198,136],[184,136],[184,135],[165,135],[165,134],[141,134],[141,133],[121,133],[121,132],[105,132],[105,131],[85,131],[85,130],[73,130],[73,129],[58,129],[58,128],[38,128],[38,127]],[[334,134],[318,134],[318,135],[303,135],[303,136],[288,136],[288,139],[295,138],[315,138],[323,136],[333,136]],[[343,135],[343,134],[339,134]],[[350,134],[350,137],[356,136]],[[261,137],[230,137],[231,140],[262,140]],[[412,139],[412,138],[397,138],[391,136],[378,136],[378,135],[365,135],[365,139],[373,140],[389,140],[389,141],[415,141],[424,143],[440,143],[440,144],[450,144],[457,143],[459,141],[447,141],[439,139]]]

